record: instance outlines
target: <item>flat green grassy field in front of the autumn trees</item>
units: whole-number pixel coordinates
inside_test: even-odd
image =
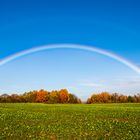
[[[0,104],[1,139],[140,140],[140,104]]]

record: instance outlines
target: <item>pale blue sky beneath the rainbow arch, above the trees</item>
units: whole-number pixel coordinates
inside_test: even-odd
[[[136,94],[140,75],[107,56],[80,49],[52,49],[19,57],[0,67],[1,93],[67,88],[82,100],[108,91]]]

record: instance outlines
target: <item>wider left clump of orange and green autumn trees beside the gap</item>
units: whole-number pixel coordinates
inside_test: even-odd
[[[51,92],[41,89],[24,94],[3,94],[0,96],[0,103],[81,103],[81,100],[67,89],[53,90]]]

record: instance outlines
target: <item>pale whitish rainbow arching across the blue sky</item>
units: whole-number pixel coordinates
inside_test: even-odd
[[[80,50],[85,50],[85,51],[90,51],[90,52],[96,52],[96,53],[105,55],[107,57],[110,57],[110,58],[124,64],[125,66],[132,69],[136,73],[140,74],[140,68],[138,66],[136,66],[135,64],[129,62],[128,60],[126,60],[126,59],[124,59],[124,58],[122,58],[114,53],[111,53],[109,51],[105,51],[103,49],[99,49],[99,48],[96,48],[93,46],[85,46],[85,45],[78,45],[78,44],[52,44],[52,45],[44,45],[44,46],[34,47],[31,49],[24,50],[24,51],[21,51],[19,53],[13,54],[9,57],[6,57],[5,59],[0,60],[0,66],[3,66],[5,64],[7,64],[8,62],[11,62],[12,60],[18,59],[19,57],[22,57],[22,56],[26,56],[28,54],[32,54],[32,53],[40,52],[40,51],[44,51],[44,50],[60,49],[60,48],[80,49]]]

